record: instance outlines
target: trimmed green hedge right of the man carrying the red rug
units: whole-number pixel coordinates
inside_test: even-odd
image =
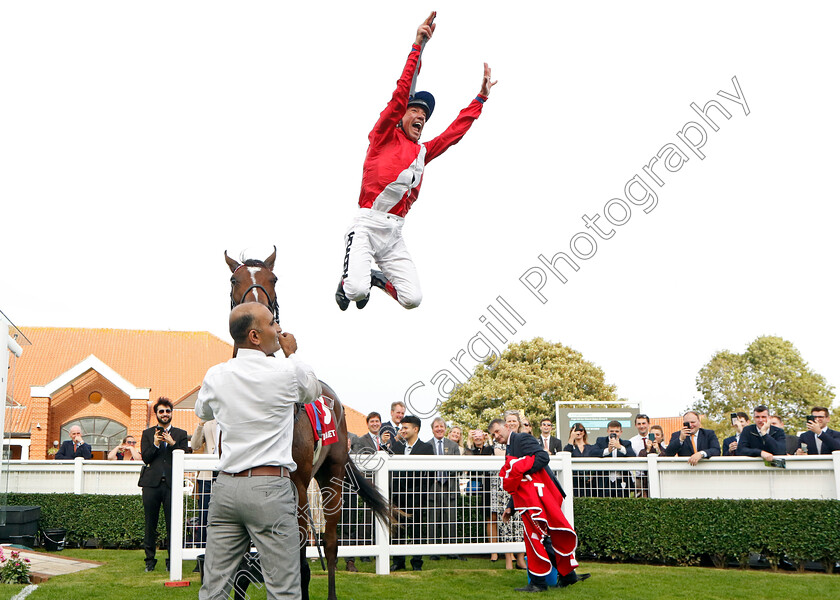
[[[575,528],[581,554],[619,561],[745,566],[754,552],[831,572],[840,560],[838,500],[577,498]]]

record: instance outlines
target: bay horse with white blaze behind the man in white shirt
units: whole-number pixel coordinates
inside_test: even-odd
[[[274,320],[279,322],[280,310],[277,303],[275,285],[277,276],[274,274],[274,260],[277,247],[265,260],[248,259],[243,263],[230,258],[225,251],[225,262],[232,273],[230,278],[230,306],[231,309],[245,302],[260,302],[274,314]],[[236,350],[234,349],[234,356]],[[301,532],[300,553],[300,585],[304,600],[309,598],[309,561],[306,560],[307,531],[307,488],[314,477],[321,488],[323,497],[326,526],[324,529],[324,554],[327,558],[329,578],[328,600],[336,600],[335,569],[338,560],[338,522],[341,519],[341,496],[343,483],[347,481],[352,491],[358,493],[365,504],[373,510],[376,517],[389,527],[395,522],[398,514],[392,509],[390,502],[365,478],[350,457],[347,420],[344,406],[335,391],[323,381],[322,396],[333,402],[333,412],[336,419],[338,441],[322,447],[320,455],[315,460],[315,433],[312,431],[306,411],[300,406],[295,411],[295,429],[292,442],[292,458],[297,470],[292,473],[292,483],[298,493],[298,530]]]

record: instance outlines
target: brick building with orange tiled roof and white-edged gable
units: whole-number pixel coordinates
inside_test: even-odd
[[[160,396],[175,405],[172,423],[192,434],[198,388],[211,366],[233,347],[202,331],[145,331],[22,327],[32,342],[13,365],[6,398],[6,437],[12,458],[50,458],[74,425],[105,458],[126,435],[138,440]],[[317,370],[316,370],[317,372]],[[367,431],[364,416],[347,408],[348,429]]]

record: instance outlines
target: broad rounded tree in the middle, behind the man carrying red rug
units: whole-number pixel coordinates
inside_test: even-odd
[[[440,406],[447,421],[462,428],[485,429],[505,410],[519,409],[532,420],[554,415],[556,400],[588,406],[594,400],[617,402],[615,386],[580,352],[542,338],[510,344],[494,364],[491,357]],[[537,423],[533,423],[537,431]]]

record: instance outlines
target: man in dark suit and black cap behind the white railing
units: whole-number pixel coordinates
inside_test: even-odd
[[[394,456],[434,456],[432,446],[420,441],[420,419],[408,415],[400,422],[400,437],[402,439],[391,442]],[[407,513],[404,518],[405,528],[398,537],[405,539],[408,535],[415,544],[426,543],[426,497],[429,491],[428,471],[397,471],[394,473],[391,489],[394,490],[394,500],[397,506]],[[400,519],[403,520],[402,518]],[[415,571],[423,569],[423,557],[412,556],[411,568]],[[392,571],[405,569],[405,556],[395,556]]]

